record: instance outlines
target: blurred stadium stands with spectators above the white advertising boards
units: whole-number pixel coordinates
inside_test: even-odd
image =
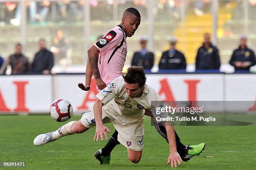
[[[84,72],[87,49],[136,7],[125,67],[255,72],[256,0],[0,0],[0,74]]]

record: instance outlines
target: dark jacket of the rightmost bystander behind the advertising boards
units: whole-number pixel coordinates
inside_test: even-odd
[[[248,67],[236,67],[235,62],[249,62],[250,65]],[[233,65],[235,67],[235,70],[249,70],[251,66],[256,64],[256,58],[253,50],[246,47],[245,50],[241,49],[241,46],[239,46],[236,50],[233,51],[233,54],[229,61],[230,65]]]

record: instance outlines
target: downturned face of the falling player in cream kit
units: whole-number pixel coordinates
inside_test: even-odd
[[[135,97],[141,97],[142,93],[144,90],[144,86],[143,87],[139,87],[138,83],[127,83],[125,82],[125,91],[128,94],[128,97],[130,99],[133,99]]]

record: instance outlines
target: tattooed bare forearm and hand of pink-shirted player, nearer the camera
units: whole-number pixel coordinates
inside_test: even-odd
[[[89,62],[90,62],[92,73],[96,80],[96,85],[100,90],[102,90],[107,85],[105,82],[102,81],[102,79],[100,77],[100,71],[98,68],[99,52],[100,52],[100,50],[98,50],[97,47],[92,45],[92,47],[88,50],[88,57],[89,57]]]

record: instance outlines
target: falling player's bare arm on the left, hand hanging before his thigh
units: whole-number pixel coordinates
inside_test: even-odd
[[[103,125],[102,122],[102,102],[97,99],[95,104],[93,105],[93,112],[94,112],[94,117],[95,117],[95,123],[96,123],[96,132],[94,136],[94,140],[98,141],[99,138],[103,140],[103,135],[105,136],[106,139],[108,139],[108,136],[106,134],[106,131],[110,133],[111,131],[108,129],[108,127]]]

